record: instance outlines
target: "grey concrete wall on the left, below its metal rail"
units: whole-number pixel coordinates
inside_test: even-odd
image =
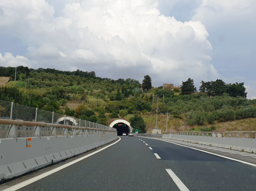
[[[0,139],[0,180],[19,176],[117,139],[117,134]],[[30,147],[27,147],[30,145]]]

